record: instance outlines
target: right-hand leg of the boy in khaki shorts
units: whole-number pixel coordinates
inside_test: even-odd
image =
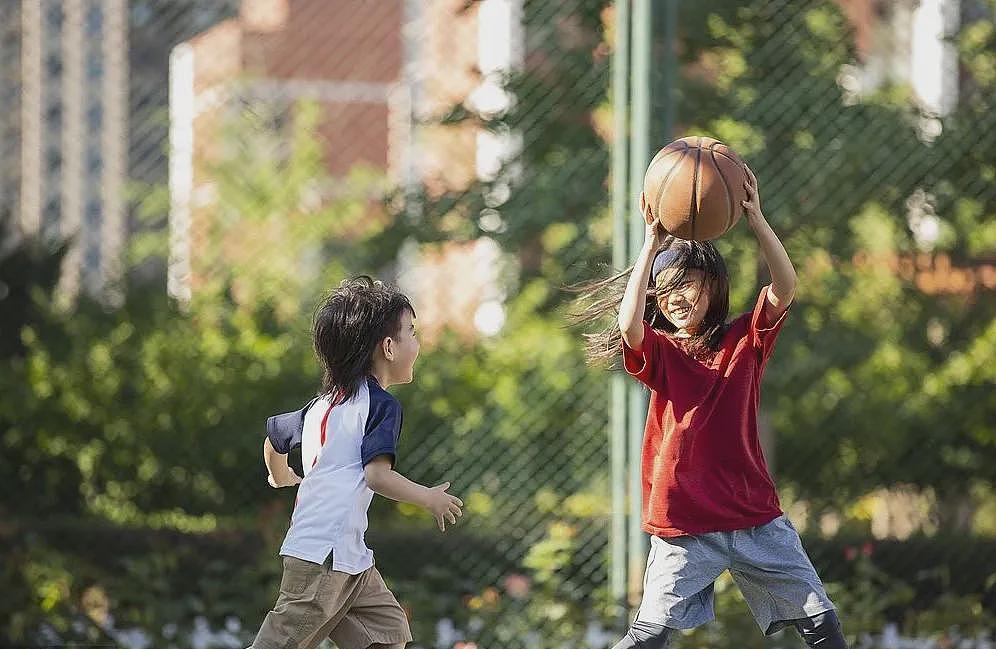
[[[328,630],[339,649],[403,648],[412,640],[408,616],[376,568],[359,575],[356,598]]]

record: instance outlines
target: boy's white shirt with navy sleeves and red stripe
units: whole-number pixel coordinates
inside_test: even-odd
[[[390,456],[394,465],[401,434],[398,400],[369,377],[351,399],[318,397],[300,410],[270,417],[266,434],[279,453],[300,446],[304,467],[280,554],[322,564],[331,552],[332,569],[351,575],[373,566],[363,538],[373,491],[363,467],[379,455]]]

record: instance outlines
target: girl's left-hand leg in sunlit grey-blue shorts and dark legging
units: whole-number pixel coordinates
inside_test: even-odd
[[[713,582],[728,567],[720,534],[651,536],[643,601],[615,649],[664,649],[674,629],[691,629],[713,619]]]

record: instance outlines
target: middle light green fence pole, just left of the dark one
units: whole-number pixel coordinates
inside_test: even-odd
[[[633,0],[632,12],[632,122],[629,158],[628,215],[630,252],[643,246],[644,224],[640,214],[643,171],[650,162],[650,50],[653,35],[650,0]],[[643,422],[647,416],[646,393],[636,386],[629,394],[629,602],[638,606],[642,597],[643,572],[646,566],[647,537],[643,532],[642,450]]]

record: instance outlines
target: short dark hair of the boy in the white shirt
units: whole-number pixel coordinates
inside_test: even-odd
[[[367,275],[344,279],[315,310],[315,354],[322,365],[322,394],[353,397],[373,368],[377,345],[398,336],[401,314],[415,315],[408,298]]]

